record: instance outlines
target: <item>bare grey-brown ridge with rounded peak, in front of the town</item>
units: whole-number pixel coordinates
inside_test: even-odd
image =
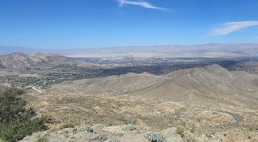
[[[258,101],[258,88],[254,84],[257,80],[258,76],[255,74],[228,71],[219,65],[209,65],[159,76],[129,73],[83,79],[74,81],[76,86],[73,88],[81,90],[78,86],[84,86],[83,90],[89,95],[128,94],[186,103],[229,103],[252,107]],[[67,85],[73,84],[61,83],[53,85],[53,88],[58,86],[65,90]],[[246,101],[250,103],[246,104]]]

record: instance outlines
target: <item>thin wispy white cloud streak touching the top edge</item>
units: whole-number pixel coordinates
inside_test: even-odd
[[[130,5],[138,5],[138,6],[141,6],[144,8],[151,8],[151,9],[156,9],[156,10],[161,10],[161,11],[171,11],[170,9],[167,9],[167,8],[156,7],[146,1],[129,1],[129,0],[117,0],[117,1],[119,3],[120,7],[122,7],[126,4],[130,4]]]

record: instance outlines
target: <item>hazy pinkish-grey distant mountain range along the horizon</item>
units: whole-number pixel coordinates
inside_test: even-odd
[[[258,44],[202,44],[167,46],[128,46],[93,49],[36,49],[25,47],[0,46],[0,54],[54,53],[68,57],[250,57],[258,56]]]

